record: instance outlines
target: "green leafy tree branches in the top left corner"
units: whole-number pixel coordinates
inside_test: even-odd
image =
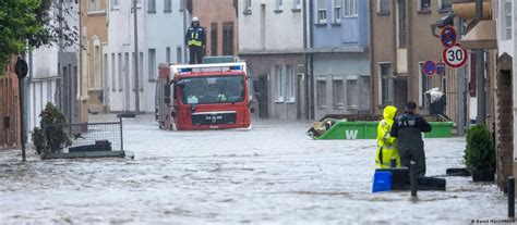
[[[0,66],[27,47],[72,46],[79,36],[67,23],[72,13],[63,0],[0,0]]]

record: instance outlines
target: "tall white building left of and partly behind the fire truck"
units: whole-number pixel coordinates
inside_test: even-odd
[[[182,62],[183,1],[137,0],[140,111],[154,112],[158,63]],[[112,112],[135,110],[134,18],[132,1],[110,0],[108,13],[109,108]]]

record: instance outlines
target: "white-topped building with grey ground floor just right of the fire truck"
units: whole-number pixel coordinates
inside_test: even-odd
[[[249,66],[255,115],[306,117],[304,1],[238,1],[239,55]]]

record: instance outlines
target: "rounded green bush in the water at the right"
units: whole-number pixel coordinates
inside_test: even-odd
[[[495,167],[494,140],[486,127],[476,125],[467,132],[465,162],[470,170]]]

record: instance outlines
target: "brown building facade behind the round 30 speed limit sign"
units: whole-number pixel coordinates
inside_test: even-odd
[[[460,102],[464,109],[466,99],[458,101],[456,91],[461,86],[458,74],[465,71],[446,68],[444,76],[426,76],[422,72],[425,61],[442,61],[444,47],[432,35],[430,25],[450,12],[452,1],[371,0],[370,3],[372,112],[382,114],[388,104],[402,111],[408,101],[414,101],[421,114],[428,114],[425,91],[440,88],[446,95],[445,115],[455,122],[466,117],[457,104]],[[460,121],[464,124],[466,118]]]

